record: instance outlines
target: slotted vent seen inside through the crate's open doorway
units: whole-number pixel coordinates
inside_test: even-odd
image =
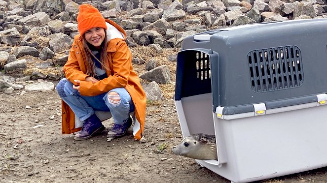
[[[196,52],[196,77],[201,80],[211,79],[209,56],[203,52]]]

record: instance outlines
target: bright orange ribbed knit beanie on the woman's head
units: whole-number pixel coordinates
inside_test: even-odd
[[[106,21],[99,10],[90,4],[82,4],[79,6],[77,16],[77,27],[80,35],[92,28],[104,28],[107,30]]]

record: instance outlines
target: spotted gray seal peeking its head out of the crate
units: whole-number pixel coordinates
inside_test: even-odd
[[[173,147],[173,152],[193,159],[218,160],[216,136],[203,133],[187,136],[183,138],[181,144]]]

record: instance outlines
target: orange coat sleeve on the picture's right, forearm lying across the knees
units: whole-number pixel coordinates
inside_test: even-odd
[[[128,84],[128,78],[132,69],[132,53],[125,41],[116,44],[116,52],[109,55],[112,60],[113,75],[94,84],[81,81],[79,92],[81,95],[94,96],[110,91],[114,88],[123,88]],[[110,59],[110,58],[109,58]],[[107,72],[108,73],[108,72]]]

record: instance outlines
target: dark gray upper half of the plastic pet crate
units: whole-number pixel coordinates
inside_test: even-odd
[[[316,100],[327,92],[326,32],[327,19],[310,19],[188,36],[178,54],[175,100],[212,92],[214,111]]]

